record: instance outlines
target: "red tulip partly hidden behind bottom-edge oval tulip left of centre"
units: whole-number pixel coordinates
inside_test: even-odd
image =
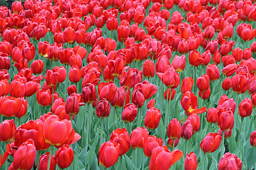
[[[125,128],[112,131],[110,141],[120,145],[119,156],[124,155],[130,149],[130,136]]]

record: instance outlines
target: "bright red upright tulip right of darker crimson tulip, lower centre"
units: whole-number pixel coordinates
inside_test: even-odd
[[[156,109],[155,107],[148,109],[144,119],[144,126],[148,129],[158,128],[161,116],[162,114],[159,109]]]

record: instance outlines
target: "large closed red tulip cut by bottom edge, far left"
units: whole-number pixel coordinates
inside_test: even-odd
[[[36,158],[36,148],[34,141],[28,139],[14,154],[13,167],[14,169],[32,169]]]

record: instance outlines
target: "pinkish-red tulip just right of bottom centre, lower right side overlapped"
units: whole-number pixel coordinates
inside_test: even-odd
[[[131,147],[142,148],[144,138],[148,136],[148,131],[146,128],[138,127],[131,132]]]

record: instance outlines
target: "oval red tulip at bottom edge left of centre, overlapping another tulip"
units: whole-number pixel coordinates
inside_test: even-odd
[[[98,162],[105,168],[113,166],[118,160],[119,151],[118,143],[112,141],[102,143],[100,151],[98,151]]]

